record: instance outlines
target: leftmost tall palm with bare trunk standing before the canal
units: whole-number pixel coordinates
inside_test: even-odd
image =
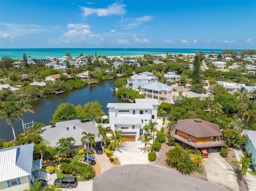
[[[12,134],[14,140],[16,140],[15,130],[13,126],[14,120],[19,120],[20,110],[17,108],[16,102],[7,101],[4,103],[4,109],[0,110],[0,120],[6,118],[6,123],[12,126]]]

